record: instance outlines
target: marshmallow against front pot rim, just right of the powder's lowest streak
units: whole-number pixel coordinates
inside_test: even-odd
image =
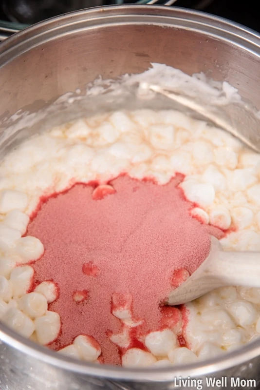
[[[122,356],[123,367],[149,367],[156,363],[156,358],[151,353],[140,350],[139,348],[130,348]]]

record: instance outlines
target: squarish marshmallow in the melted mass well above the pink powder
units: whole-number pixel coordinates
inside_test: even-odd
[[[155,149],[169,150],[174,143],[175,129],[172,125],[152,125],[149,127],[150,143]]]

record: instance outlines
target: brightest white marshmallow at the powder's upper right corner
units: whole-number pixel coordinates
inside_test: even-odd
[[[210,206],[215,199],[215,190],[212,184],[185,180],[180,187],[184,190],[188,200],[198,203],[202,207]]]

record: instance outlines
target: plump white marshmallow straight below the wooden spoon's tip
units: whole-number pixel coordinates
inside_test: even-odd
[[[146,347],[155,356],[166,356],[176,344],[176,336],[169,329],[150,332],[145,338]]]

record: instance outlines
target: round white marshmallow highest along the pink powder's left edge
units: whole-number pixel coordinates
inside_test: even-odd
[[[16,252],[21,258],[21,262],[37,260],[44,252],[44,248],[40,240],[36,237],[27,235],[16,241]]]

